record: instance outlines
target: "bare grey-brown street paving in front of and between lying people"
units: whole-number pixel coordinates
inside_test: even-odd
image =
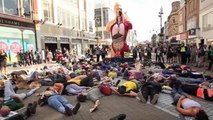
[[[40,64],[34,65],[32,67],[22,67],[22,68],[8,68],[8,71],[13,70],[29,70],[31,68],[43,68],[44,65],[51,66],[56,64]],[[40,88],[37,92],[42,92],[47,87]],[[26,90],[20,90],[22,92]],[[76,96],[66,96],[71,103],[77,103]],[[207,110],[207,114],[210,120],[213,119],[213,104],[212,102],[204,101],[195,98],[204,108]],[[38,97],[31,96],[27,98],[24,102],[32,102],[38,100]],[[159,101],[156,105],[144,104],[138,102],[135,98],[121,97],[117,95],[105,96],[101,98],[101,106],[94,113],[90,113],[89,109],[93,106],[91,101],[86,101],[81,104],[80,111],[77,115],[67,117],[57,111],[49,108],[47,105],[37,108],[37,113],[30,117],[29,120],[109,120],[112,116],[116,116],[121,113],[127,115],[126,120],[178,120],[179,114],[176,108],[171,105],[172,99],[170,95],[161,93]],[[23,112],[25,109],[19,111]]]

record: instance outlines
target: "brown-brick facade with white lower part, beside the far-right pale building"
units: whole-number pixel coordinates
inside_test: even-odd
[[[199,0],[186,1],[186,25],[188,31],[188,44],[200,43],[199,4]]]

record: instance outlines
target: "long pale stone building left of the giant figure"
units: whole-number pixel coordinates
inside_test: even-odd
[[[37,0],[38,49],[68,49],[82,55],[94,43],[94,25],[88,14],[94,9],[88,0]],[[89,7],[89,5],[91,5]],[[90,13],[88,13],[90,12]],[[91,42],[91,43],[90,43]]]

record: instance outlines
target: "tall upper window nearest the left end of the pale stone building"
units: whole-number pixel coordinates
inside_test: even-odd
[[[53,22],[52,0],[42,0],[44,19]]]

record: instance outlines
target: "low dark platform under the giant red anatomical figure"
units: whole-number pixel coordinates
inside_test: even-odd
[[[122,57],[112,57],[112,58],[105,58],[105,60],[110,62],[120,62],[120,63],[134,63],[135,60],[133,58],[122,58]]]

